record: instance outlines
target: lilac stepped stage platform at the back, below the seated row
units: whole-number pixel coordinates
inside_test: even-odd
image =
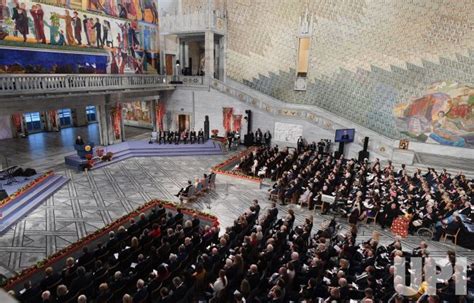
[[[204,144],[149,144],[148,140],[127,141],[119,144],[105,147],[98,146],[97,149],[103,149],[104,154],[113,153],[111,161],[96,160],[92,169],[104,167],[106,165],[117,163],[133,157],[170,157],[170,156],[203,156],[203,155],[221,155],[221,145],[212,140]],[[65,157],[66,165],[80,169],[87,163],[87,160],[79,158],[78,155],[69,155]]]

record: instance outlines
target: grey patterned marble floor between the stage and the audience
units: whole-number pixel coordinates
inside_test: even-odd
[[[201,176],[229,156],[133,158],[89,173],[56,168],[57,173],[69,177],[71,182],[0,237],[0,273],[11,276],[152,198],[177,202],[173,194],[189,178]],[[228,226],[253,199],[259,199],[263,209],[269,206],[266,189],[254,189],[218,177],[216,191],[187,206],[216,214],[222,226]],[[310,214],[294,206],[279,207],[280,214],[293,207],[297,223]],[[316,227],[329,218],[319,212],[313,214]],[[345,222],[341,224],[347,228]],[[380,230],[373,225],[361,226],[359,241],[369,238],[374,228]],[[389,232],[381,232],[383,244],[393,240]],[[409,237],[404,241],[404,248],[411,250],[419,241],[417,237]],[[430,242],[433,256],[444,256],[450,247]],[[471,261],[474,259],[471,251],[462,248],[457,251]]]

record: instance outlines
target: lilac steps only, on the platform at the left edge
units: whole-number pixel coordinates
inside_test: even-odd
[[[41,184],[37,185],[34,189],[31,189],[31,192],[15,198],[8,205],[0,208],[3,215],[3,218],[0,221],[0,234],[7,231],[8,228],[18,220],[24,218],[29,212],[52,196],[68,181],[68,178],[52,175]]]

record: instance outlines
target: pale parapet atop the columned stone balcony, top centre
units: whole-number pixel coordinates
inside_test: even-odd
[[[202,10],[194,13],[164,15],[160,18],[160,31],[165,34],[202,32],[214,30],[225,32],[225,17],[219,11]]]

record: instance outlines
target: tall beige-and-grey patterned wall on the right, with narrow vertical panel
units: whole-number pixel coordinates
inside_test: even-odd
[[[470,0],[229,1],[227,77],[390,138],[473,147],[473,11]],[[305,14],[311,48],[301,92],[293,88]],[[447,97],[434,98],[437,111],[407,114],[416,100],[440,94]],[[464,114],[438,117],[452,108]]]

